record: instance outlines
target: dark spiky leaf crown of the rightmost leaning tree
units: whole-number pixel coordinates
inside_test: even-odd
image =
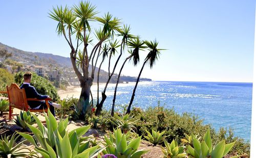
[[[150,68],[152,69],[154,63],[156,60],[158,60],[158,57],[160,55],[160,51],[164,49],[157,49],[158,42],[156,40],[154,41],[145,41],[146,46],[148,47],[147,50],[150,52],[147,54],[145,61],[150,64]]]

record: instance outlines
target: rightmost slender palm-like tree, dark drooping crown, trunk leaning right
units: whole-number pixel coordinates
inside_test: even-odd
[[[143,62],[143,65],[141,67],[141,70],[140,70],[140,73],[139,73],[139,76],[137,78],[137,81],[136,81],[136,84],[135,84],[135,87],[133,89],[133,94],[132,94],[132,98],[131,98],[131,101],[130,101],[130,104],[129,106],[127,107],[127,110],[126,110],[126,114],[129,114],[130,111],[131,111],[131,106],[133,104],[133,100],[134,100],[134,96],[135,96],[135,92],[136,92],[136,88],[137,88],[137,85],[138,85],[138,82],[140,80],[140,75],[143,71],[143,68],[145,66],[146,63],[148,63],[150,65],[150,69],[152,69],[154,63],[156,60],[158,60],[159,58],[159,55],[160,55],[160,51],[163,50],[163,49],[157,49],[157,45],[158,45],[158,42],[155,40],[155,41],[144,41],[146,46],[147,46],[147,49],[150,51],[144,62]]]

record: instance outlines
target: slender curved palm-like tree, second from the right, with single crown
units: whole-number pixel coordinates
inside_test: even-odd
[[[124,66],[124,64],[126,63],[127,60],[133,60],[133,64],[137,65],[137,63],[140,60],[140,58],[139,58],[139,50],[142,50],[142,49],[145,48],[143,46],[143,44],[144,44],[144,41],[141,41],[139,39],[139,37],[137,37],[136,39],[131,39],[130,41],[127,42],[127,45],[131,49],[133,49],[133,51],[129,52],[131,55],[124,60],[122,66],[121,66],[121,69],[119,71],[118,78],[117,78],[117,81],[116,81],[115,92],[114,92],[113,104],[112,104],[112,109],[111,109],[111,116],[114,116],[117,86],[118,86],[118,83],[119,83],[121,72],[123,70],[123,66]]]

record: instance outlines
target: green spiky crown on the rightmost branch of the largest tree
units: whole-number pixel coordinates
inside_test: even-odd
[[[95,17],[95,19],[103,24],[103,33],[105,35],[114,35],[114,30],[120,30],[120,19],[114,17],[112,14],[106,13],[103,17]]]

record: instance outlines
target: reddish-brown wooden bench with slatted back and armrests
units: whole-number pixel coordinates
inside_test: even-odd
[[[10,86],[6,86],[8,99],[9,99],[9,120],[11,120],[12,116],[12,107],[18,108],[20,110],[24,111],[30,111],[30,112],[46,112],[48,109],[32,109],[28,105],[28,101],[46,101],[47,107],[50,109],[50,105],[48,101],[51,101],[51,98],[46,99],[36,99],[36,98],[27,98],[25,89],[20,89],[19,86],[15,83],[12,83]]]

